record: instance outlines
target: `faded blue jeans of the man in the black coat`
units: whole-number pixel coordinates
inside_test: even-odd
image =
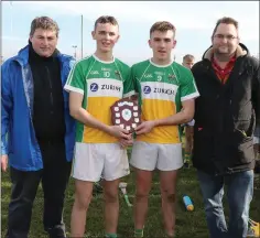
[[[253,194],[253,171],[214,176],[197,171],[210,238],[246,238],[249,206]],[[223,195],[227,185],[229,223],[226,224]]]

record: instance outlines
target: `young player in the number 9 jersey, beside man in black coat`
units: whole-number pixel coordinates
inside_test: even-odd
[[[152,58],[132,66],[131,77],[142,109],[142,123],[136,128],[130,161],[137,175],[136,237],[143,236],[155,169],[160,171],[165,231],[174,237],[176,175],[183,166],[178,126],[193,119],[194,98],[198,97],[191,71],[171,57],[175,45],[175,28],[170,22],[156,22],[150,30]]]

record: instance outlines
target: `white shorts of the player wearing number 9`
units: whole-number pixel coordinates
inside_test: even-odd
[[[130,164],[140,170],[174,171],[183,166],[182,143],[161,144],[136,141]]]

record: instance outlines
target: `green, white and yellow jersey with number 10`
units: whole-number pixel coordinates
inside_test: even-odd
[[[83,108],[106,125],[111,125],[110,107],[117,100],[134,94],[128,65],[117,58],[102,62],[95,55],[75,64],[65,89],[83,94]],[[77,142],[113,143],[117,140],[101,130],[77,122]]]

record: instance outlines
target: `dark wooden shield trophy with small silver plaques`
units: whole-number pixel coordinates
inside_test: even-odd
[[[140,107],[137,101],[122,98],[111,106],[112,125],[133,132],[141,123]]]

